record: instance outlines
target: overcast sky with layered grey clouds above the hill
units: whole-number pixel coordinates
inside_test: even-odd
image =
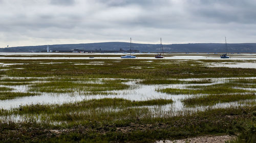
[[[0,47],[256,43],[255,0],[0,0]]]

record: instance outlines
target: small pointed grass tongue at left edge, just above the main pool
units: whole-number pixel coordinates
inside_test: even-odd
[[[22,92],[0,92],[0,100],[15,99],[18,97],[35,96],[35,93],[22,93]]]

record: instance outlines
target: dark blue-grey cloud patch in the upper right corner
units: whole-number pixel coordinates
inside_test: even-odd
[[[197,20],[215,23],[255,23],[256,15],[254,10],[256,7],[255,1],[239,1],[239,0],[200,0],[196,5],[193,1],[187,1],[187,9],[197,15]]]

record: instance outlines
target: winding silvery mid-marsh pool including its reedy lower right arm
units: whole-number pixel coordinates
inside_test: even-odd
[[[146,106],[154,112],[156,116],[161,115],[180,115],[189,112],[203,111],[207,108],[221,108],[221,107],[230,107],[230,106],[242,106],[239,102],[228,102],[228,103],[218,103],[212,106],[196,106],[196,107],[185,107],[181,102],[184,98],[189,98],[193,96],[200,95],[172,95],[166,93],[157,92],[157,89],[165,88],[174,88],[174,89],[185,89],[188,85],[212,85],[218,83],[224,83],[225,80],[229,79],[240,79],[240,78],[207,78],[212,81],[212,83],[204,84],[153,84],[153,85],[144,85],[137,84],[138,80],[132,80],[124,82],[125,84],[131,85],[131,89],[127,90],[118,90],[110,91],[109,95],[88,95],[82,92],[74,93],[41,93],[38,96],[22,97],[12,100],[0,100],[0,108],[11,109],[18,107],[20,105],[30,105],[30,104],[63,104],[63,103],[74,103],[76,101],[90,100],[90,99],[102,99],[102,98],[123,98],[131,101],[145,101],[151,99],[172,99],[174,103],[166,104],[161,106]],[[243,79],[256,79],[256,77],[248,77]],[[205,80],[205,78],[187,78],[182,79],[187,81],[193,80]],[[27,92],[28,85],[15,85],[15,86],[5,86],[10,88],[15,88],[15,92]],[[1,86],[3,87],[3,85]],[[113,94],[114,93],[114,94]]]

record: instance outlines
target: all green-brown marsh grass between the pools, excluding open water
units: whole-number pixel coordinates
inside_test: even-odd
[[[2,78],[4,76],[40,77],[34,79],[36,82],[19,78],[15,79],[16,81],[10,81],[11,78],[8,81],[2,81],[8,83],[33,82],[29,88],[34,92],[82,91],[84,95],[89,93],[108,95],[111,92],[115,93],[115,90],[130,89],[131,85],[126,85],[124,82],[132,79],[142,80],[141,84],[200,84],[211,81],[183,81],[181,78],[256,77],[255,69],[205,67],[207,62],[223,62],[223,60],[201,60],[202,63],[195,60],[115,61],[108,59],[18,61],[8,59],[1,62],[23,65],[10,65],[8,68],[12,70],[0,71],[0,76],[2,75]],[[104,62],[104,65],[90,65],[92,64],[90,62]],[[131,67],[141,68],[131,69]],[[238,83],[239,81],[231,82],[233,81],[230,80],[226,84],[186,87],[190,89],[169,89],[166,93],[209,94],[203,96],[204,98],[196,96],[184,99],[182,102],[185,106],[186,104],[189,106],[214,105],[234,100],[245,103],[245,106],[218,109],[209,107],[204,111],[182,110],[180,114],[173,114],[172,108],[166,112],[161,110],[162,105],[164,105],[163,107],[168,106],[174,102],[173,100],[131,101],[121,98],[104,98],[63,104],[30,104],[9,110],[1,109],[0,140],[3,142],[63,143],[82,141],[154,142],[160,139],[178,139],[205,134],[240,134],[241,128],[252,123],[255,124],[253,116],[256,109],[255,102],[245,100],[253,100],[255,95],[253,96],[251,93],[237,94],[249,91],[236,88],[254,85],[254,80],[241,81],[241,83]],[[148,106],[156,106],[156,108]],[[159,116],[155,116],[157,113]],[[254,114],[256,115],[256,113]],[[15,116],[22,120],[13,122],[16,121]],[[5,117],[14,117],[14,119],[12,121],[11,118]],[[246,128],[246,130],[248,129]]]

